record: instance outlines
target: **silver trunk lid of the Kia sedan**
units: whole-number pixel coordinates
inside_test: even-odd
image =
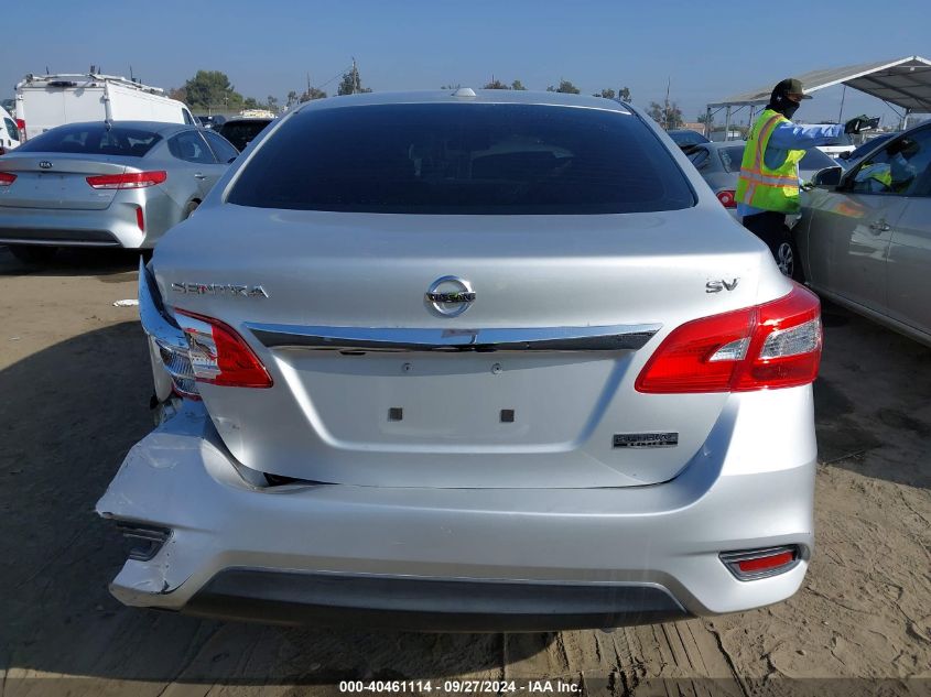
[[[0,170],[17,175],[15,182],[0,189],[0,206],[11,208],[52,208],[104,210],[117,189],[96,189],[87,177],[134,171],[137,157],[96,157],[58,152],[11,153],[0,162]]]

